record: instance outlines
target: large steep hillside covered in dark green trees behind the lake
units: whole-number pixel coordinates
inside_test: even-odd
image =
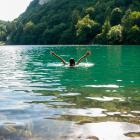
[[[34,0],[12,25],[11,44],[140,44],[140,0]]]

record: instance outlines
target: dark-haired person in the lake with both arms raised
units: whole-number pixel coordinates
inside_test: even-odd
[[[58,58],[59,60],[61,60],[64,65],[67,65],[67,62],[63,58],[61,58],[60,56],[58,56],[57,54],[55,54],[54,52],[50,52],[50,54],[52,54],[53,56],[55,56],[56,58]],[[91,54],[91,52],[90,51],[87,51],[77,62],[75,62],[75,60],[73,58],[71,58],[69,60],[69,66],[70,67],[74,67],[75,65],[78,65],[84,58],[86,58],[90,54]]]

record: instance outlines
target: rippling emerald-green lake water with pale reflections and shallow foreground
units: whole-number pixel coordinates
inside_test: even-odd
[[[140,140],[140,46],[1,46],[0,140]]]

